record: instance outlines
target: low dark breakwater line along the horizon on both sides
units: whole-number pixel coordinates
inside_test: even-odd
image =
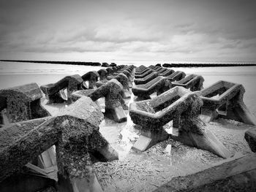
[[[20,63],[34,63],[34,64],[66,64],[66,65],[83,65],[83,66],[102,66],[99,62],[86,62],[86,61],[34,61],[34,60],[0,60],[6,62],[20,62]],[[159,65],[159,64],[157,64]],[[111,65],[109,65],[111,66]],[[217,67],[217,66],[256,66],[256,64],[161,64],[164,67]]]

